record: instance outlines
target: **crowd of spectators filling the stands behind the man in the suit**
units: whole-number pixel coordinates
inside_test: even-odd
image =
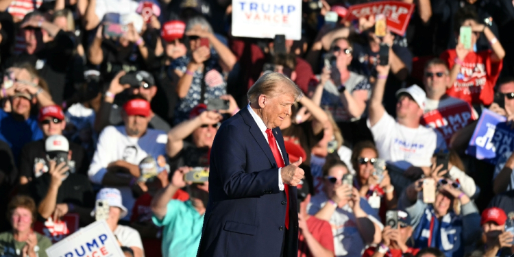
[[[514,2],[397,1],[404,35],[346,19],[372,0],[302,0],[279,45],[232,36],[228,0],[1,0],[0,256],[96,219],[125,256],[196,256],[210,188],[188,173],[265,73],[303,93],[280,125],[298,256],[511,256],[514,149],[467,148],[484,112],[514,130]]]

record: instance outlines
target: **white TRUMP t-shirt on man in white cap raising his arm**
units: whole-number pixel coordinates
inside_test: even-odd
[[[371,127],[378,149],[378,156],[400,169],[430,167],[435,151],[446,149],[443,136],[431,127],[419,125],[417,128],[406,127],[397,123],[391,115],[384,113],[380,121]]]

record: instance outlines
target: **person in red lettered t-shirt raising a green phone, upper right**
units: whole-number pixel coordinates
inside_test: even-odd
[[[472,105],[489,106],[493,102],[496,79],[502,71],[505,50],[489,26],[478,22],[478,15],[472,8],[461,8],[454,19],[453,30],[458,44],[455,49],[444,51],[439,57],[450,67],[451,87],[447,93]],[[465,32],[461,27],[471,27],[472,33],[461,34],[461,31]],[[482,34],[489,41],[491,49],[476,51],[476,41]],[[470,48],[466,49],[465,45]]]

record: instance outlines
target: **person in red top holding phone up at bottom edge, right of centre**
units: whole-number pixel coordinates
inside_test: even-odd
[[[408,246],[411,236],[413,235],[413,227],[411,225],[411,217],[405,210],[395,210],[397,212],[397,227],[391,228],[387,225],[382,231],[382,242],[377,247],[368,247],[363,257],[407,257],[415,256],[419,252],[419,248]]]

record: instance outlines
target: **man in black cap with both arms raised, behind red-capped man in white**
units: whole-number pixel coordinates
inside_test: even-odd
[[[129,74],[129,76],[132,77],[132,83],[122,85],[119,83],[119,78],[123,77],[123,75],[126,75],[126,73],[121,71],[112,79],[109,89],[105,93],[105,97],[103,97],[100,110],[97,112],[95,119],[95,131],[97,133],[101,132],[101,130],[108,125],[119,125],[123,123],[119,116],[120,106],[114,103],[114,98],[123,91],[127,90],[129,95],[140,95],[149,102],[156,96],[156,82],[154,76],[150,73],[137,71],[136,73]],[[169,124],[152,110],[150,110],[150,117],[148,127],[165,132],[171,130]]]

